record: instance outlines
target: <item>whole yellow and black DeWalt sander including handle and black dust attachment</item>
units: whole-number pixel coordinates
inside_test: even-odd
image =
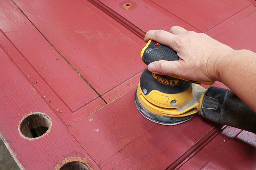
[[[179,57],[170,47],[149,40],[141,51],[141,59],[148,65]],[[145,69],[135,93],[135,104],[144,117],[162,125],[183,123],[198,112],[219,124],[256,133],[256,113],[231,90],[213,86],[204,89],[198,85],[213,83],[158,75]]]

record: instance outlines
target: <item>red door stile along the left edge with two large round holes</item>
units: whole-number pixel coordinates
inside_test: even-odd
[[[59,160],[79,156],[86,157],[95,169],[99,169],[2,47],[0,56],[0,133],[20,167],[26,170],[53,169]],[[49,133],[32,141],[22,138],[18,131],[23,116],[31,112],[43,112],[52,120]]]

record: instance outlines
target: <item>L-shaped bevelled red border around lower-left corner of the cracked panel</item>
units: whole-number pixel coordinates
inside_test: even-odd
[[[42,96],[43,99],[49,104],[56,114],[66,123],[71,126],[81,119],[87,117],[97,109],[101,108],[106,103],[97,97],[93,101],[86,103],[85,106],[72,112],[63,100],[51,88],[50,84],[44,79],[36,70],[29,64],[26,58],[20,53],[18,49],[10,42],[10,40],[0,31],[0,44],[10,56],[10,59],[20,68],[20,70],[27,76],[27,79],[33,84],[33,88]],[[28,78],[30,76],[30,78]],[[31,80],[32,77],[37,77],[36,83]],[[32,82],[33,81],[33,82]],[[58,80],[55,83],[58,84]],[[65,93],[65,92],[64,92]]]

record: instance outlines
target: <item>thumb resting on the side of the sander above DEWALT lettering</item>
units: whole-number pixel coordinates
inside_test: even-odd
[[[148,70],[156,74],[174,74],[178,72],[177,66],[180,63],[178,61],[154,61],[148,65]]]

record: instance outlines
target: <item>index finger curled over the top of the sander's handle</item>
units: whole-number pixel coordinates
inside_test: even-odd
[[[174,43],[174,39],[177,35],[171,34],[170,32],[164,30],[149,30],[145,35],[144,42],[148,40],[154,40],[160,44],[170,46]]]

